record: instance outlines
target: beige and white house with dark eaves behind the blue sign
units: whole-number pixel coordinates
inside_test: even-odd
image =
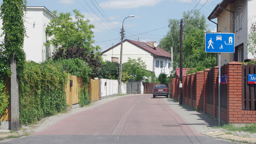
[[[222,53],[221,64],[233,61],[249,61],[254,59],[247,53],[248,33],[256,22],[256,0],[223,0],[208,16],[208,20],[217,18],[217,32],[235,34],[235,53]],[[232,41],[232,39],[230,39]]]

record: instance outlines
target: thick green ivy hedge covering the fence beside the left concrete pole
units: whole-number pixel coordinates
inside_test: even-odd
[[[35,122],[65,110],[68,74],[52,61],[26,62],[19,81],[20,122]]]

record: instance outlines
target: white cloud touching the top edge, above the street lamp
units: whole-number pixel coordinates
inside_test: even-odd
[[[163,0],[109,0],[100,3],[103,9],[131,9],[143,6],[155,6]]]

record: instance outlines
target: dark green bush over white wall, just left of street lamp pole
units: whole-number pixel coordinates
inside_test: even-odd
[[[118,72],[119,72],[119,64],[112,63],[112,62],[106,60],[106,62],[103,62],[102,67],[99,70],[98,78],[99,79],[118,80],[118,75],[119,75]]]

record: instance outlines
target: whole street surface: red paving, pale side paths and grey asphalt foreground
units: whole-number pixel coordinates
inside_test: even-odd
[[[70,143],[70,138],[73,140],[71,143],[86,141],[95,144],[233,143],[229,137],[254,142],[254,139],[226,135],[225,130],[213,129],[217,124],[206,114],[178,105],[170,98],[153,98],[145,94],[125,95],[45,118],[33,127],[23,127],[23,132],[19,132],[30,132],[32,136],[4,139],[0,143],[62,144]],[[251,135],[251,138],[254,136]]]

